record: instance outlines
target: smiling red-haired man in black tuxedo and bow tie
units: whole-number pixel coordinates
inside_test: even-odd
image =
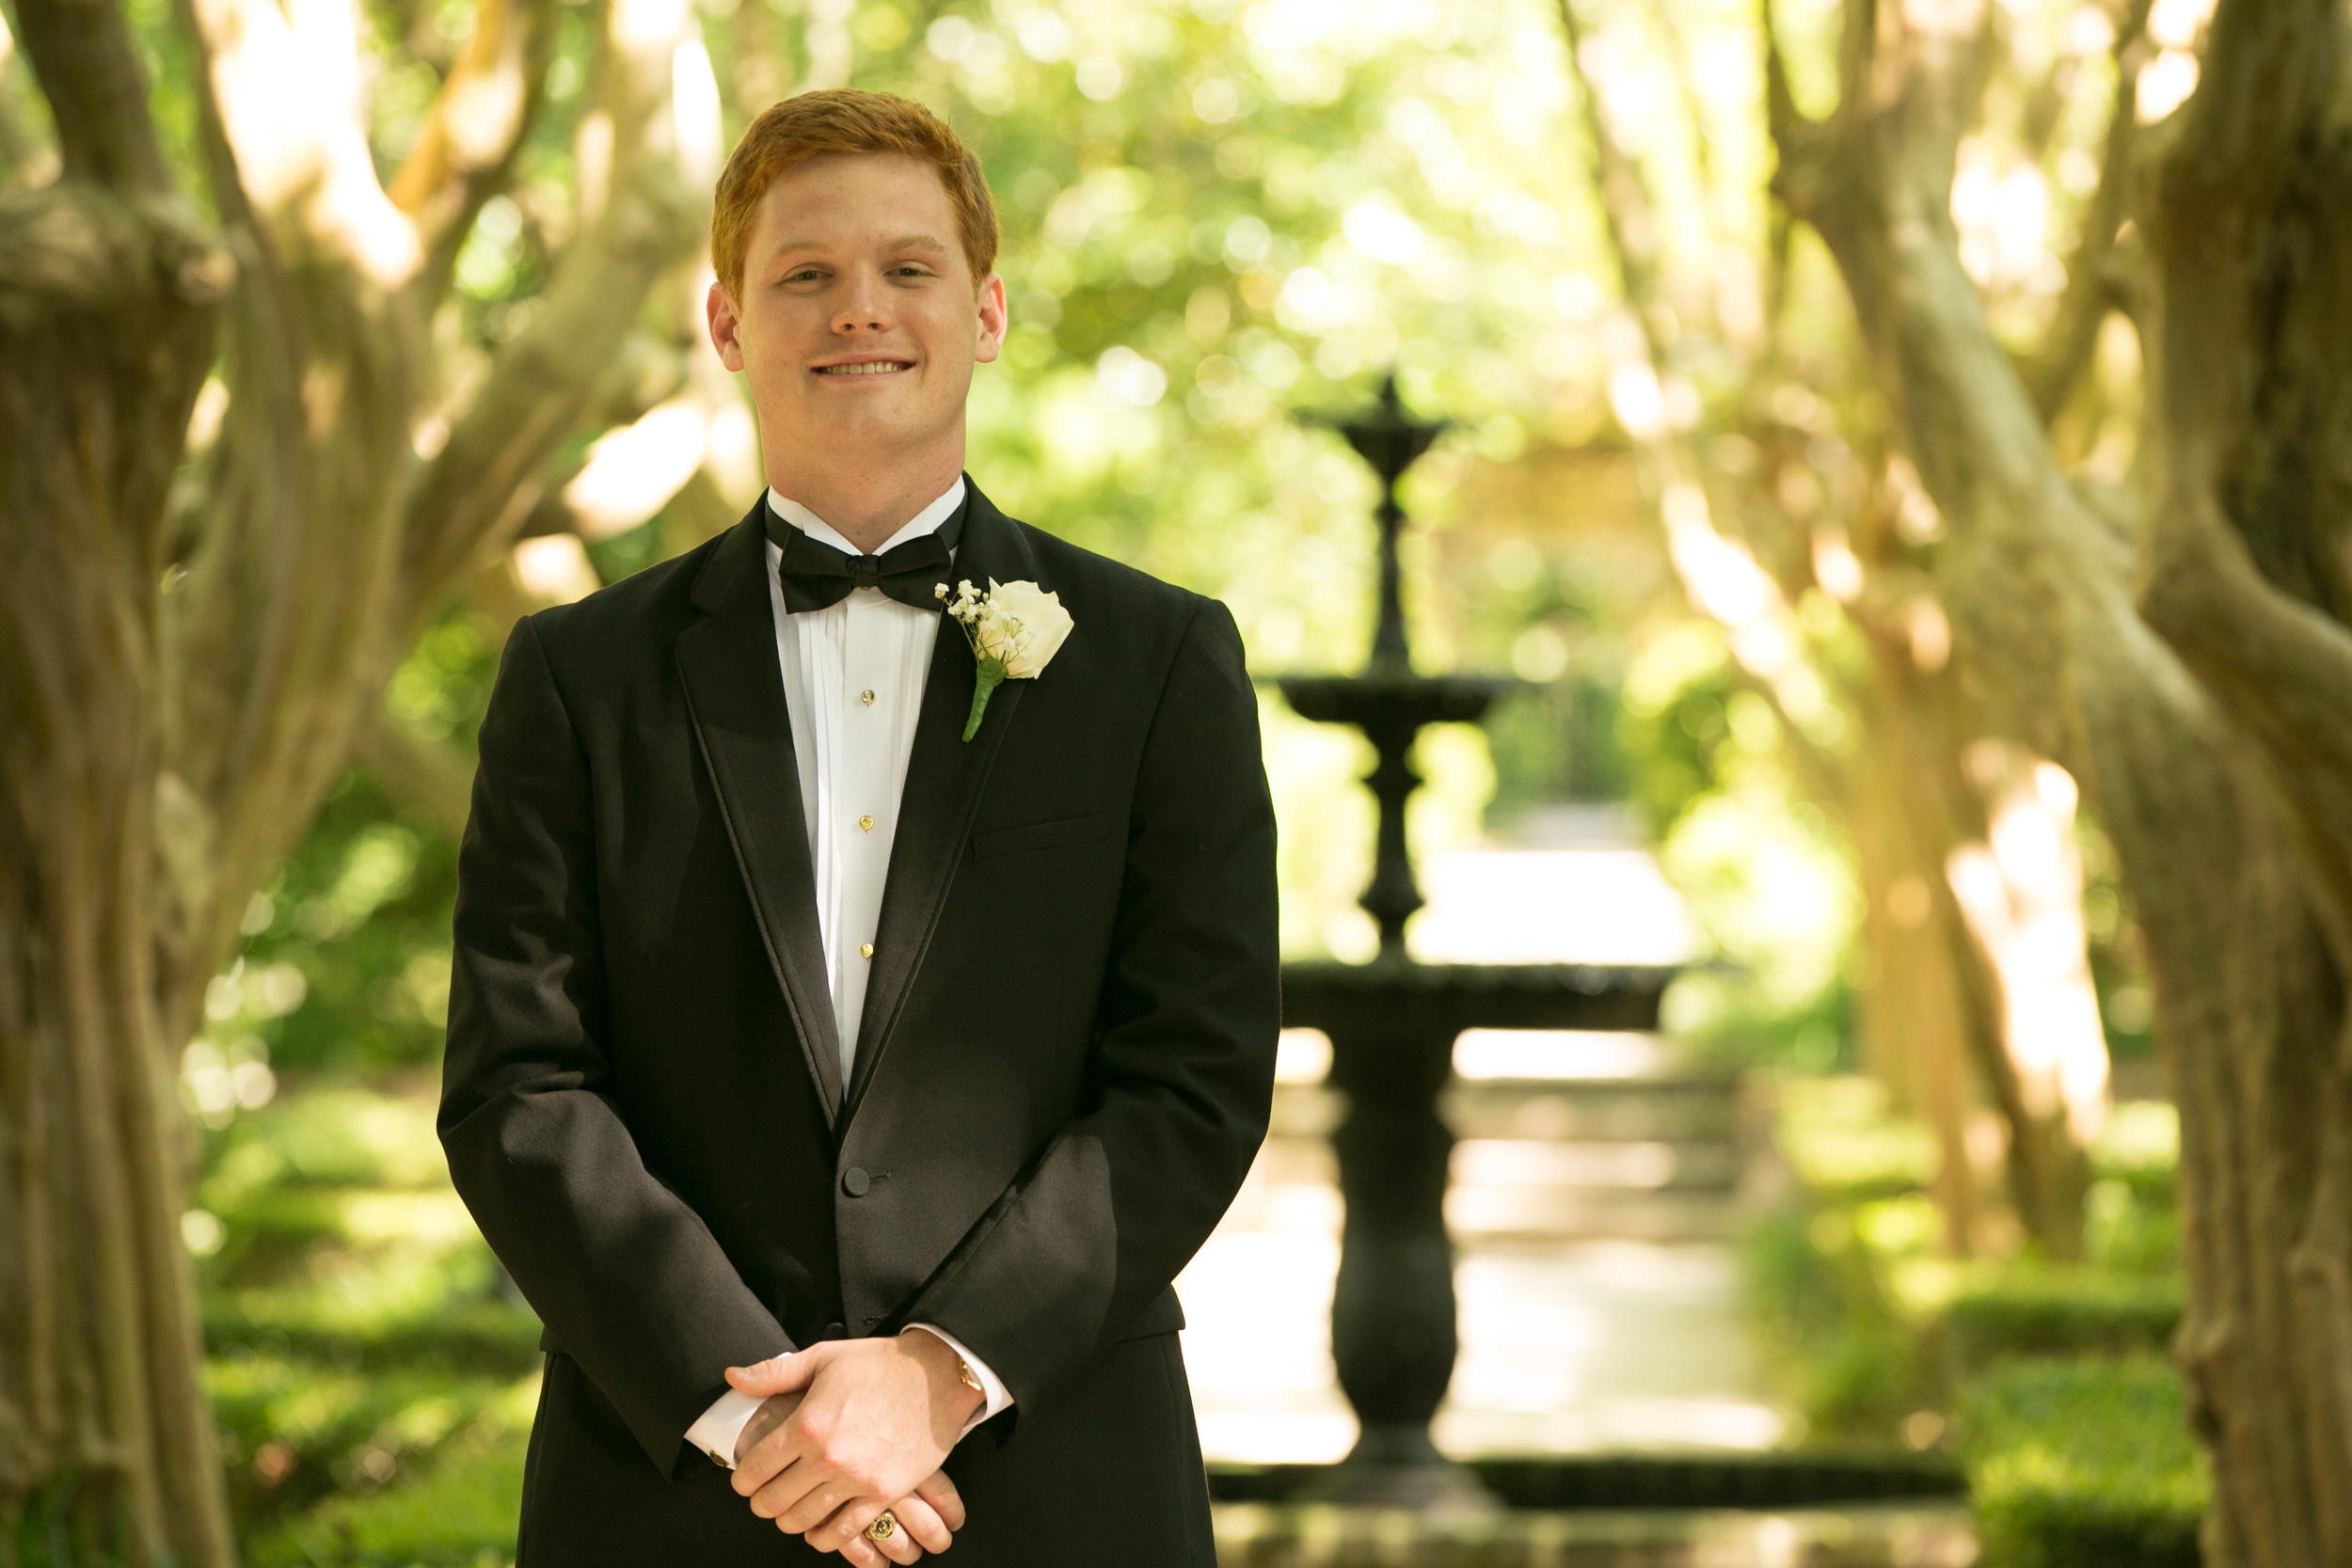
[[[771,489],[515,628],[459,863],[520,1568],[1211,1568],[1169,1281],[1272,1093],[1240,637],[962,475],[1004,284],[946,125],[779,103],[710,230]]]

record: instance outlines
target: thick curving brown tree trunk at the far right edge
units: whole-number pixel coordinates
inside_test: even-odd
[[[2206,1544],[2216,1563],[2265,1568],[2352,1561],[2345,42],[2340,5],[2223,7],[2140,212],[2154,263],[2143,607],[2260,780],[2246,795],[2265,985],[2180,999],[2227,1004],[2244,1039],[2176,1063],[2199,1112],[2183,1138],[2183,1352],[2220,1488]]]

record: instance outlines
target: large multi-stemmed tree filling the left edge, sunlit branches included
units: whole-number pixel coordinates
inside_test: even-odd
[[[555,14],[482,0],[379,183],[348,12],[186,0],[207,221],[122,9],[16,2],[59,172],[0,186],[0,1561],[33,1537],[233,1561],[179,1046],[390,668],[534,510],[708,200],[680,141],[715,143],[715,118],[673,106],[708,78],[691,12],[609,0],[583,221],[452,397],[433,317],[534,122]]]

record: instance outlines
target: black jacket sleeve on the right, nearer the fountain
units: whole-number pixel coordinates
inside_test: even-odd
[[[1087,1110],[906,1316],[1044,1403],[1169,1288],[1265,1138],[1282,1027],[1275,809],[1223,604],[1200,602],[1143,748]]]

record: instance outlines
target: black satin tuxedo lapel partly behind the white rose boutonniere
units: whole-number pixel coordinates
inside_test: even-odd
[[[969,475],[964,482],[971,484]],[[955,550],[955,581],[971,581],[985,590],[988,578],[1018,583],[1035,576],[1037,562],[1018,524],[974,484],[964,538]],[[858,1020],[858,1053],[849,1070],[844,1119],[856,1114],[858,1095],[866,1093],[875,1063],[889,1046],[891,1027],[938,926],[938,912],[948,903],[955,867],[964,858],[981,785],[997,759],[1004,731],[1021,712],[1021,691],[1028,682],[997,686],[988,698],[981,733],[967,743],[971,686],[971,644],[964,642],[962,628],[941,618],[931,672],[922,684],[922,715],[915,719],[915,750],[906,762],[906,790],[898,797],[898,835],[882,882],[875,969],[866,980],[866,1016]]]

